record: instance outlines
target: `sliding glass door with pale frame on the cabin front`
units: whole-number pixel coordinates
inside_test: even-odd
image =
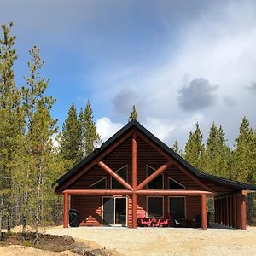
[[[126,226],[126,197],[103,197],[102,224]]]

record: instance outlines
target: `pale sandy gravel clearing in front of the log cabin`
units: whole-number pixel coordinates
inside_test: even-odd
[[[247,230],[56,227],[46,232],[93,241],[122,255],[256,255],[256,227]]]

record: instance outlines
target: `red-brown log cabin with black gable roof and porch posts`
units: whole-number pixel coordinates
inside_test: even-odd
[[[136,120],[55,182],[62,194],[63,227],[68,210],[79,212],[80,226],[137,228],[137,217],[170,218],[185,223],[201,216],[207,229],[207,199],[214,221],[246,230],[247,190],[256,186],[197,170]]]

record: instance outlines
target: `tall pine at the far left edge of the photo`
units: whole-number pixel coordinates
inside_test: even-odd
[[[12,176],[23,124],[20,91],[15,84],[13,69],[17,55],[14,49],[15,36],[10,36],[12,26],[12,23],[9,26],[4,24],[1,26],[3,38],[0,39],[0,231],[3,224],[3,214],[6,216],[7,230],[9,231],[11,228],[13,212],[11,201]]]

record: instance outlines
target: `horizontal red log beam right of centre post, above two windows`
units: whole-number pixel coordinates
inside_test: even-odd
[[[203,191],[203,190],[183,190],[183,189],[173,189],[173,190],[157,190],[157,189],[145,189],[145,190],[137,190],[137,195],[214,195],[212,192]]]

